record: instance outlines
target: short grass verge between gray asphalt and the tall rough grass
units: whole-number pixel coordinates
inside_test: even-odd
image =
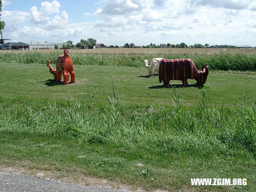
[[[256,186],[255,159],[242,155],[158,152],[139,147],[88,144],[79,138],[2,132],[0,148],[5,149],[0,150],[0,164],[26,169],[34,175],[43,172],[47,177],[88,184],[90,182],[85,180],[90,175],[146,190],[254,191]],[[143,174],[145,172],[148,174]],[[190,178],[247,178],[248,185],[191,186]]]

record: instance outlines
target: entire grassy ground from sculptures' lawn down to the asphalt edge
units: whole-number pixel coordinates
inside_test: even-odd
[[[46,65],[0,66],[1,164],[133,189],[256,188],[255,72],[210,71],[202,87],[172,89],[145,68],[75,65],[76,83],[62,86]],[[190,178],[248,186],[194,187]]]

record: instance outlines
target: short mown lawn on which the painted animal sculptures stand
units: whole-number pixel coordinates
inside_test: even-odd
[[[97,84],[96,102],[106,101],[110,94],[111,80],[113,80],[117,99],[120,103],[140,105],[170,106],[170,88],[161,86],[158,76],[147,76],[146,68],[118,68],[98,66],[74,66],[76,84],[62,86],[53,82],[53,76],[46,65],[35,64],[0,64],[1,96],[16,100],[65,100],[70,94],[73,100],[81,97],[88,99]],[[11,74],[10,75],[10,70]],[[254,102],[256,98],[256,75],[212,73],[210,72],[203,88],[208,98],[221,106],[236,107],[240,98],[246,96],[246,104]],[[176,84],[180,100],[184,106],[196,106],[201,101],[201,89],[195,80],[188,80],[188,87],[181,86],[181,81],[171,81]],[[232,94],[232,96],[230,96]]]

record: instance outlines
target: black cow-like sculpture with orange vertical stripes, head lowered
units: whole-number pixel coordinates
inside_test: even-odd
[[[187,79],[195,79],[199,85],[205,84],[209,74],[209,66],[202,65],[198,71],[191,59],[162,59],[159,64],[159,82],[169,86],[170,80],[181,80],[188,85]]]

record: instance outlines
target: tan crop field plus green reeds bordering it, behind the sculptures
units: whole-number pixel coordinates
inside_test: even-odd
[[[2,51],[0,62],[45,64],[56,61],[63,50]],[[142,67],[145,59],[191,58],[200,68],[210,70],[256,71],[256,49],[168,49],[168,48],[102,48],[95,50],[70,50],[75,65]]]

